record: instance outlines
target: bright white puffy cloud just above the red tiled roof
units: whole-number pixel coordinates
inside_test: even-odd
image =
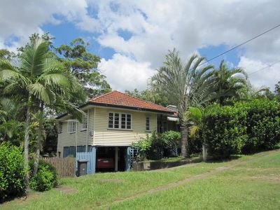
[[[112,59],[102,59],[99,69],[107,77],[113,90],[146,89],[147,80],[153,75],[148,62],[137,62],[130,57],[115,54]]]

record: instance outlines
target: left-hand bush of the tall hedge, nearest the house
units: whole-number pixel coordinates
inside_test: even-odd
[[[247,140],[246,113],[235,106],[211,105],[202,119],[202,137],[214,158],[241,153]]]

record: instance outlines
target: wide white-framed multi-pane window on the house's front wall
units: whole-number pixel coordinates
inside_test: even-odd
[[[127,113],[113,113],[110,112],[108,116],[108,127],[114,129],[130,130],[132,123],[131,114]]]

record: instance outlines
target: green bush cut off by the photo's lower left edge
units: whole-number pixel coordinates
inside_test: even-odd
[[[0,145],[0,202],[25,193],[25,167],[21,148]]]

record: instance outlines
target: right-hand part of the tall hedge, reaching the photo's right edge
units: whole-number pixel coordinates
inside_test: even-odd
[[[280,104],[265,99],[236,104],[246,112],[248,140],[243,153],[274,149],[280,140]]]

